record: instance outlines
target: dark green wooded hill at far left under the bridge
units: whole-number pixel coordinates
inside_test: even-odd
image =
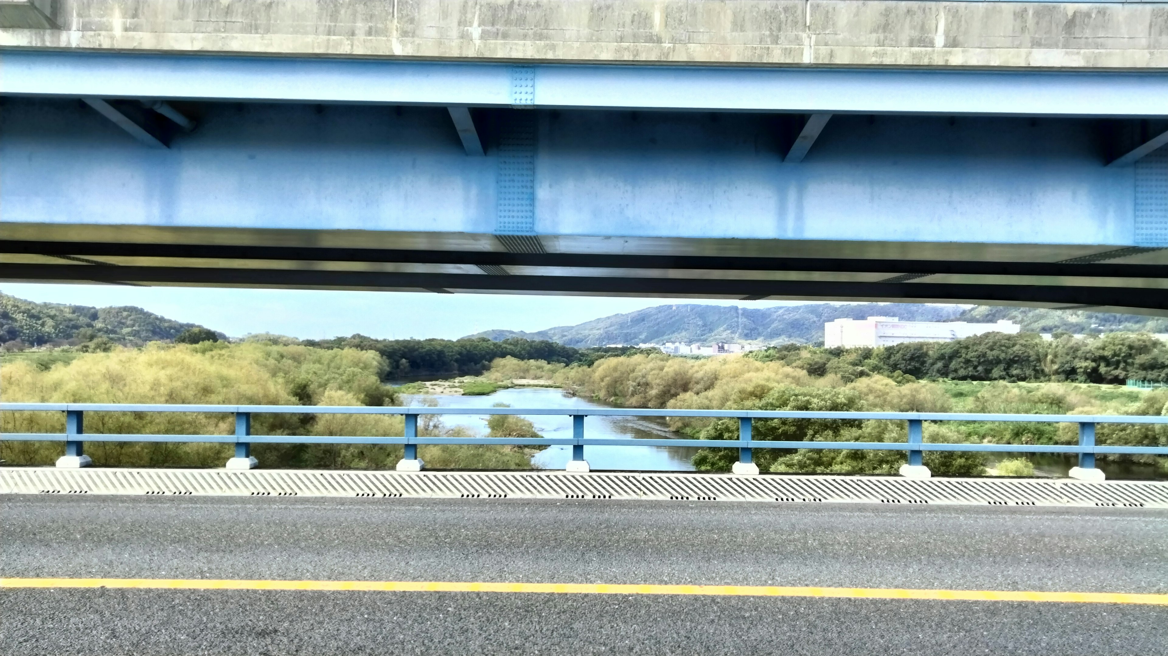
[[[174,339],[186,324],[147,312],[141,308],[90,308],[34,303],[0,294],[0,344],[20,340],[30,346],[51,341],[106,337],[118,344],[141,344]]]

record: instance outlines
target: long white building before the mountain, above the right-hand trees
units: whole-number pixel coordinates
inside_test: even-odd
[[[867,320],[835,319],[823,324],[823,346],[891,346],[906,341],[953,341],[986,332],[1017,334],[1022,326],[1010,320],[996,324],[967,322],[902,322],[898,317],[868,317]]]

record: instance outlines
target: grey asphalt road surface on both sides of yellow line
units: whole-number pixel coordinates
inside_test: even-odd
[[[0,576],[1168,592],[1168,512],[0,496]],[[0,589],[0,654],[1168,654],[1168,606]]]

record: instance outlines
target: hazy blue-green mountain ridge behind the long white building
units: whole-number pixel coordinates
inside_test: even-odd
[[[1135,315],[1105,315],[1080,310],[926,305],[920,303],[815,303],[779,308],[735,305],[658,305],[626,315],[613,315],[575,326],[556,326],[538,332],[488,330],[468,337],[500,341],[510,337],[549,339],[568,346],[607,344],[686,344],[755,341],[764,344],[814,344],[823,340],[823,324],[835,319],[894,316],[909,322],[996,322],[1011,319],[1028,332],[1072,333],[1149,331],[1168,332],[1168,319]]]

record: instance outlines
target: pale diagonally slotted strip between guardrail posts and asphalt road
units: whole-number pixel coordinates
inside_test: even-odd
[[[1168,483],[563,471],[0,468],[0,493],[1166,507]]]

